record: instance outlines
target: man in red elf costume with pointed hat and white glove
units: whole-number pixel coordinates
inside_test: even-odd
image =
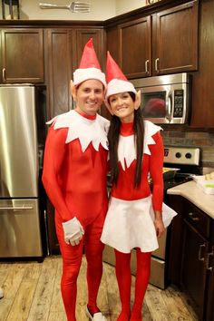
[[[97,114],[105,76],[92,39],[85,45],[71,83],[74,110],[55,117],[45,143],[43,182],[55,209],[55,227],[63,258],[61,291],[68,321],[75,321],[76,281],[87,259],[91,320],[105,321],[96,299],[102,278],[100,241],[107,210],[107,131],[109,122]]]

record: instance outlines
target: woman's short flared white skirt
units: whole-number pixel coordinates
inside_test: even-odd
[[[162,209],[163,223],[167,227],[177,213],[164,203]],[[151,196],[135,200],[112,197],[102,229],[102,243],[122,253],[130,253],[132,248],[152,252],[159,248],[153,218]]]

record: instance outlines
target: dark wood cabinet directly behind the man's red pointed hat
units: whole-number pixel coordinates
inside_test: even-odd
[[[48,87],[48,119],[68,112],[73,108],[70,82],[73,71],[79,67],[83,47],[93,38],[94,48],[102,66],[102,29],[62,29],[44,30],[45,73]]]

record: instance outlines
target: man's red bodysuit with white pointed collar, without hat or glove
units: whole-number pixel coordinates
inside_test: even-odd
[[[55,209],[55,226],[63,257],[61,282],[67,319],[75,320],[76,279],[81,267],[83,242],[88,262],[88,305],[96,306],[102,277],[100,241],[107,210],[107,131],[109,122],[100,115],[76,111],[55,119],[44,151],[43,182]],[[62,222],[76,217],[84,229],[77,246],[64,241]]]

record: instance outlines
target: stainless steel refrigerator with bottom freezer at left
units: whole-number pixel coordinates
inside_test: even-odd
[[[33,85],[0,86],[0,258],[42,257]]]

